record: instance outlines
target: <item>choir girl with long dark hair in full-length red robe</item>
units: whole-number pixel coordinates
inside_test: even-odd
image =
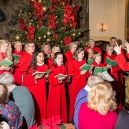
[[[44,64],[43,51],[34,53],[31,64],[27,70],[25,77],[25,86],[30,90],[34,97],[36,108],[36,120],[41,124],[42,119],[46,119],[46,75],[43,72],[48,70],[48,66]],[[41,74],[35,72],[42,72]]]

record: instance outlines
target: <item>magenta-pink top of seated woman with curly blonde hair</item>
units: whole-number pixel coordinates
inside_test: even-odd
[[[83,103],[79,112],[79,129],[114,129],[117,121],[117,113],[109,111],[106,115],[101,115],[90,110],[87,103]]]

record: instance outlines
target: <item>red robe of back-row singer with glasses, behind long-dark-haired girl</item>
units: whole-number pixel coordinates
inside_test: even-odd
[[[25,52],[19,60],[19,69],[22,72],[22,85],[24,85],[24,78],[26,76],[26,71],[28,70],[28,67],[31,63],[32,60],[32,56],[31,54],[29,54],[28,52]]]

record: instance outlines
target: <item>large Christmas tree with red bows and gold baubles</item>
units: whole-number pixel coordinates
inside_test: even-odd
[[[19,7],[19,15],[14,16],[19,30],[12,29],[10,33],[24,43],[29,41],[41,46],[50,42],[66,50],[85,31],[78,26],[79,8],[73,7],[69,0],[31,0]]]

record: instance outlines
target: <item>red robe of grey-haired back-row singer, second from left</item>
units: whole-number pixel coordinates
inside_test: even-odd
[[[13,51],[13,54],[19,55],[20,57],[24,53],[25,53],[24,51],[20,51],[20,52],[18,52],[16,50]],[[21,72],[21,70],[19,68],[19,63],[14,66],[13,77],[14,77],[14,83],[15,84],[22,85],[22,72]]]

